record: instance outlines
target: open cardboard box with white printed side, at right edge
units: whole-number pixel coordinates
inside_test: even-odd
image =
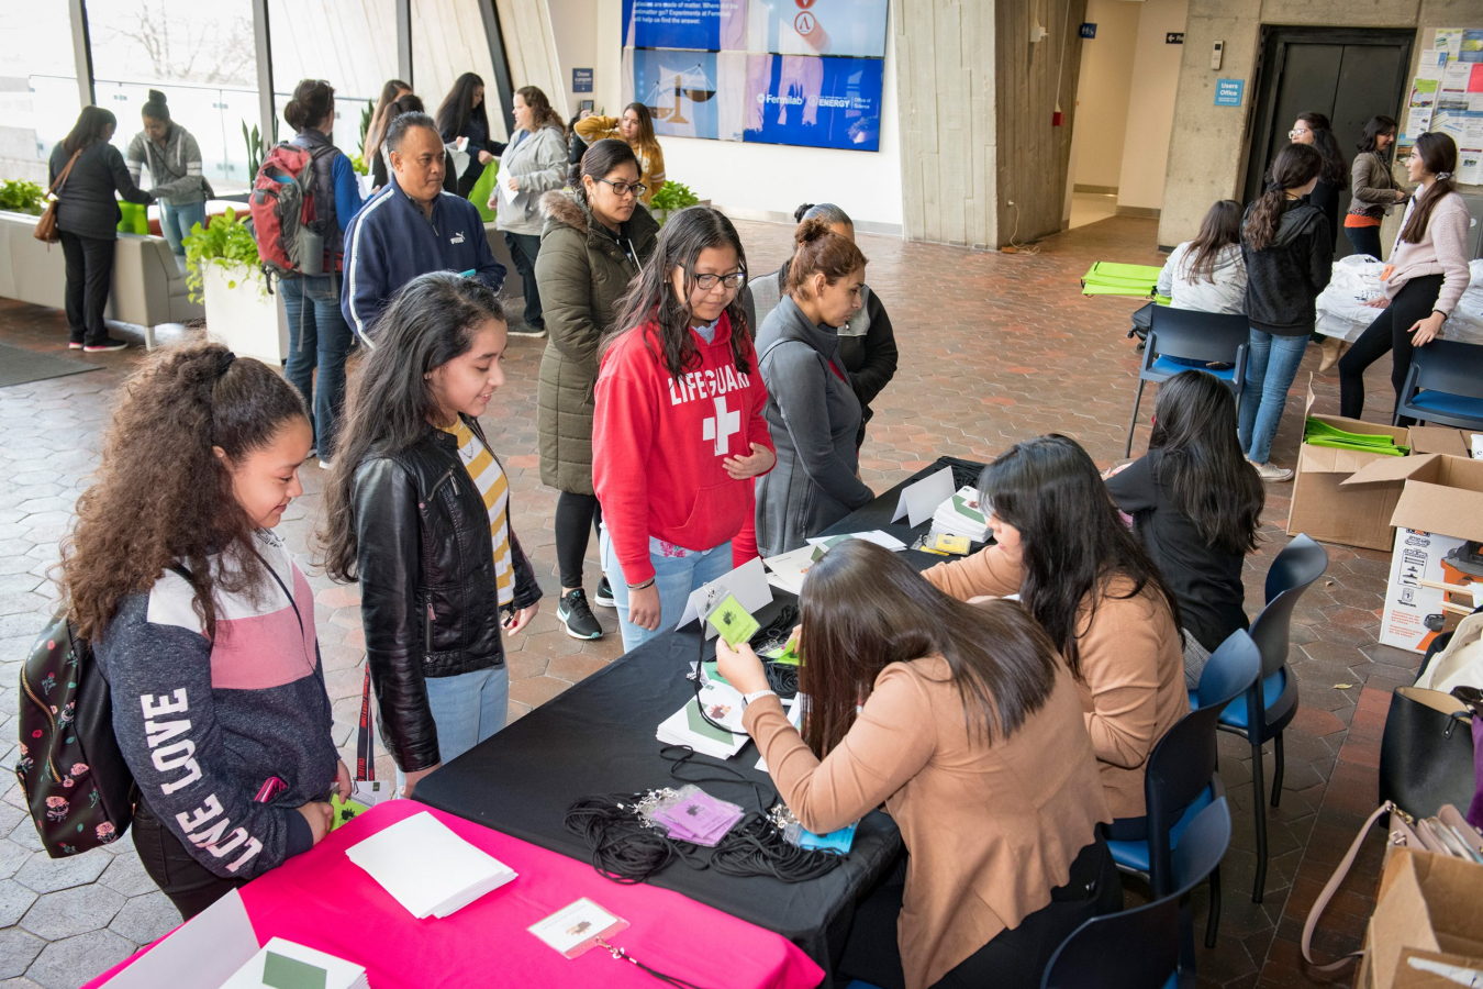
[[[1390,517],[1397,528],[1381,642],[1425,652],[1433,636],[1455,629],[1464,614],[1443,608],[1444,601],[1473,611],[1470,596],[1449,595],[1422,581],[1477,583],[1477,577],[1446,558],[1470,540],[1483,540],[1483,461],[1440,454],[1381,457],[1341,486],[1367,488],[1397,480],[1401,491]]]

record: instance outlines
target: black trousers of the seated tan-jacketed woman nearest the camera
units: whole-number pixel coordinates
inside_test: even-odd
[[[850,979],[881,989],[905,989],[896,918],[902,912],[906,875],[897,870],[854,909],[854,922],[839,958],[836,985]],[[1066,885],[1050,891],[1050,903],[1020,925],[958,962],[933,983],[936,989],[1038,989],[1041,974],[1060,943],[1093,916],[1123,909],[1123,884],[1106,842],[1099,836],[1071,863]]]

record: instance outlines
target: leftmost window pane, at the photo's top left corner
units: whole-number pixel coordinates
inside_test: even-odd
[[[80,110],[67,0],[0,3],[0,179],[46,182]]]

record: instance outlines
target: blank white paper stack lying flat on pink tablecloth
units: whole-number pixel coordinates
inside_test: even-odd
[[[423,811],[346,850],[417,919],[448,916],[515,878],[515,870]]]

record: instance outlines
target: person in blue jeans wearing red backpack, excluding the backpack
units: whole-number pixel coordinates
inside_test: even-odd
[[[331,141],[335,130],[334,86],[323,79],[300,82],[283,108],[283,119],[298,130],[289,144],[314,156],[314,209],[325,224],[323,274],[295,274],[280,280],[289,338],[283,375],[314,414],[319,466],[328,470],[346,405],[346,357],[354,340],[350,323],[340,311],[340,273],[346,267],[346,228],[360,212],[360,185],[350,159]]]

